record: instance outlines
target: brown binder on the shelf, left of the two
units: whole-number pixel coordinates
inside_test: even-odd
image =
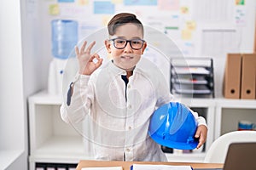
[[[227,54],[224,71],[224,97],[240,99],[241,54]]]

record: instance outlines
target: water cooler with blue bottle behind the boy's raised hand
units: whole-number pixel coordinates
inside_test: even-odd
[[[78,42],[78,22],[52,20],[51,42],[53,59],[49,64],[48,93],[60,95],[67,59]]]

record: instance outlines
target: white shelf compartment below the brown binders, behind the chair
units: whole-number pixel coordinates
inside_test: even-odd
[[[256,123],[255,99],[217,99],[214,139],[236,131],[241,120]]]

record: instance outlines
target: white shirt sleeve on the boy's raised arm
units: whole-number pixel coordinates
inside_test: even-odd
[[[69,85],[67,99],[64,99],[61,105],[62,120],[67,123],[83,121],[84,116],[90,112],[93,96],[90,76],[77,74]]]

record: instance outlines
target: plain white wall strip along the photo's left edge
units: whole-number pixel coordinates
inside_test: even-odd
[[[18,164],[20,169],[26,169],[26,101],[23,94],[20,2],[1,2],[0,17],[0,151],[20,150]],[[15,166],[15,161],[10,165]]]

